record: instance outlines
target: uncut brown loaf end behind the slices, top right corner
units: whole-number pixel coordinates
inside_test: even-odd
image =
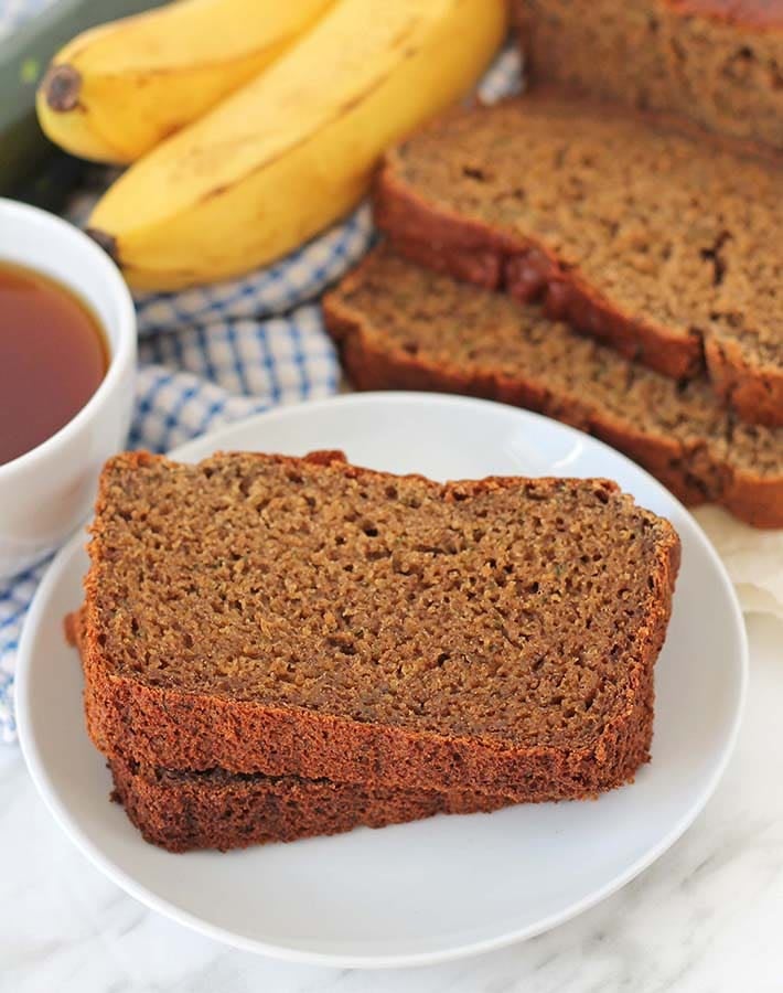
[[[529,82],[783,150],[780,0],[514,0]]]

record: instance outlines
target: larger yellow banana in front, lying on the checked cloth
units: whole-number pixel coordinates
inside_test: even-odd
[[[361,200],[386,148],[470,90],[505,30],[504,0],[337,0],[266,72],[124,173],[92,234],[139,289],[279,258]]]

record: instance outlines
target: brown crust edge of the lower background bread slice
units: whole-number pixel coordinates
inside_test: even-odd
[[[591,404],[589,391],[573,399],[558,396],[536,381],[535,371],[511,377],[502,371],[478,375],[442,367],[394,346],[380,348],[383,329],[365,327],[346,306],[344,296],[356,289],[369,259],[348,274],[340,289],[324,298],[326,328],[341,362],[357,389],[420,389],[457,393],[536,410],[594,435],[628,455],[690,506],[717,502],[754,527],[783,527],[783,477],[765,479],[710,457],[697,438],[688,447],[672,435],[652,434]]]

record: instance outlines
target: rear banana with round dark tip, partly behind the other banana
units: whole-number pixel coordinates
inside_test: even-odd
[[[133,162],[256,76],[332,2],[180,0],[86,31],[41,83],[41,127],[73,154]]]

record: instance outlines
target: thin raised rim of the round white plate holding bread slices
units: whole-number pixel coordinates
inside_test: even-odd
[[[15,692],[14,703],[17,713],[17,724],[19,733],[19,743],[22,756],[24,758],[30,776],[33,780],[36,791],[43,799],[46,808],[54,818],[55,822],[63,830],[71,842],[82,852],[82,854],[98,868],[115,885],[119,886],[125,893],[157,914],[161,914],[178,923],[190,928],[204,937],[219,941],[229,947],[242,951],[249,951],[257,954],[268,955],[280,961],[298,962],[302,964],[320,965],[329,968],[343,969],[399,969],[414,968],[420,965],[438,964],[458,959],[465,959],[472,955],[484,954],[502,948],[506,948],[516,942],[526,941],[551,930],[559,925],[572,920],[580,914],[602,903],[618,890],[622,889],[641,873],[655,863],[672,845],[674,845],[696,821],[702,812],[709,799],[715,793],[725,771],[726,767],[734,752],[739,732],[742,724],[742,717],[746,709],[748,683],[749,683],[749,644],[747,628],[739,599],[733,585],[728,576],[723,563],[720,560],[718,553],[711,542],[705,534],[698,521],[693,514],[672,494],[662,483],[652,477],[641,466],[629,459],[622,452],[616,451],[609,445],[586,435],[568,425],[562,425],[551,418],[544,417],[530,410],[515,408],[506,404],[498,404],[493,401],[478,399],[474,397],[461,397],[451,394],[437,393],[418,393],[411,391],[377,391],[356,394],[343,394],[334,397],[328,397],[320,401],[303,401],[296,404],[285,404],[267,412],[254,414],[246,418],[223,425],[214,431],[193,438],[183,445],[176,446],[168,456],[174,459],[193,458],[193,451],[206,447],[212,451],[219,450],[221,440],[230,436],[234,431],[253,426],[255,423],[268,423],[270,419],[280,419],[290,416],[291,413],[301,412],[301,408],[309,408],[311,413],[317,414],[324,406],[335,405],[357,405],[377,403],[383,401],[389,404],[425,404],[435,406],[479,406],[500,408],[504,414],[519,416],[522,420],[533,418],[536,421],[545,421],[549,426],[556,426],[567,434],[573,435],[579,439],[589,438],[589,440],[603,449],[607,449],[613,457],[622,459],[636,472],[643,474],[648,483],[661,491],[664,498],[674,502],[679,511],[686,515],[685,520],[689,527],[693,528],[694,537],[701,545],[704,552],[707,553],[710,566],[716,570],[720,578],[721,587],[728,596],[731,608],[731,620],[739,641],[739,658],[737,659],[739,693],[734,703],[731,725],[725,737],[720,756],[715,764],[710,776],[708,777],[701,790],[690,803],[687,811],[674,823],[669,831],[648,848],[642,856],[636,858],[625,867],[621,873],[609,879],[603,886],[597,888],[592,893],[575,900],[566,908],[550,914],[546,918],[537,920],[535,923],[526,927],[507,930],[503,933],[491,938],[455,944],[435,951],[408,952],[400,955],[396,954],[343,954],[340,952],[325,951],[308,951],[304,949],[293,948],[291,946],[267,942],[247,936],[238,935],[235,931],[223,928],[219,925],[205,921],[197,915],[191,914],[169,899],[161,897],[149,887],[136,882],[133,876],[117,865],[108,855],[104,853],[100,846],[95,843],[83,829],[74,822],[67,808],[60,799],[55,783],[50,779],[46,771],[45,762],[41,757],[40,749],[32,730],[32,702],[29,692],[29,682],[31,679],[32,668],[32,643],[34,632],[37,630],[41,618],[46,612],[46,606],[52,591],[58,586],[63,577],[67,574],[67,567],[74,556],[78,553],[84,542],[83,527],[67,541],[67,543],[55,555],[50,564],[46,573],[35,591],[28,617],[24,622],[22,636],[19,643],[19,653],[17,659],[15,672]],[[200,456],[201,457],[201,456]]]

